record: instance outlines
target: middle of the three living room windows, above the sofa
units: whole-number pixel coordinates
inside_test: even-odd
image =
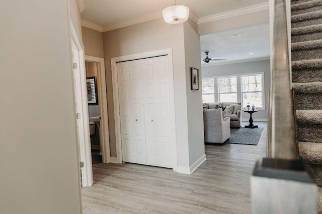
[[[219,102],[237,102],[237,77],[218,78]]]

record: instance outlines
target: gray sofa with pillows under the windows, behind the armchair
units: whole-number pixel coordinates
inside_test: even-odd
[[[223,108],[226,106],[234,105],[232,114],[224,114],[223,117],[230,118],[230,127],[231,128],[240,128],[241,126],[241,102],[236,103],[204,103],[203,109],[216,109]],[[204,118],[205,119],[205,118]]]

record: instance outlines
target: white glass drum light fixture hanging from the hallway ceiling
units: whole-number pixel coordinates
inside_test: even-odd
[[[175,0],[175,5],[164,9],[162,16],[165,22],[169,24],[184,23],[189,18],[189,8],[183,5],[177,5],[177,0]]]

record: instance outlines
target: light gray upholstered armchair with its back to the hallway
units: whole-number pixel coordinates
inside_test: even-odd
[[[230,137],[230,118],[223,118],[222,109],[203,110],[205,142],[223,143]]]

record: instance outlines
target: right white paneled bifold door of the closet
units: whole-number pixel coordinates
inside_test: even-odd
[[[142,60],[147,164],[173,168],[168,68],[167,56]]]

